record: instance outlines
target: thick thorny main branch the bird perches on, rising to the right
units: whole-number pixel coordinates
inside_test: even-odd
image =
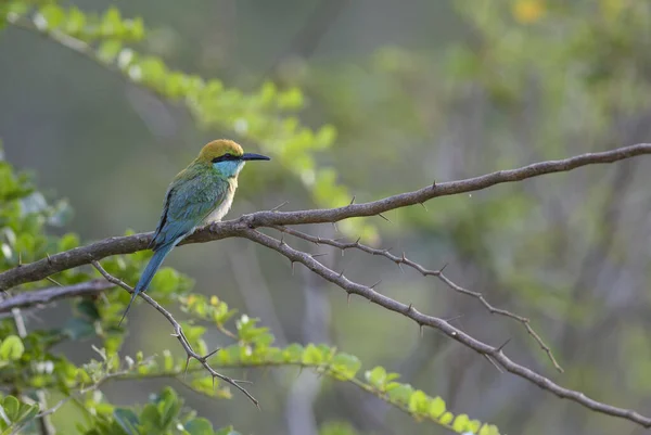
[[[604,164],[651,154],[651,143],[604,151],[601,153],[587,153],[574,157],[534,163],[518,169],[498,170],[480,177],[468,178],[459,181],[433,183],[432,185],[412,192],[387,196],[383,200],[363,204],[349,204],[339,208],[311,209],[298,212],[257,212],[244,215],[234,220],[213,223],[201,228],[184,243],[203,243],[214,240],[240,235],[247,228],[273,227],[284,225],[326,223],[336,222],[353,217],[376,216],[387,210],[422,204],[438,196],[449,196],[459,193],[474,192],[495,184],[522,181],[545,174],[564,172],[582,166]],[[122,238],[110,238],[88,246],[77,247],[28,265],[15,267],[0,273],[0,291],[26,282],[40,281],[51,274],[74,267],[88,265],[92,260],[118,254],[131,254],[146,250],[152,233],[141,233]]]

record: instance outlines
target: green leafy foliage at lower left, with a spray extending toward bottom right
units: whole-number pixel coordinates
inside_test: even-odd
[[[52,207],[42,203],[40,207],[26,210],[21,206],[27,197],[42,197],[30,187],[27,177],[14,174],[7,162],[0,162],[0,175],[7,180],[0,192],[4,210],[0,230],[5,234],[8,231],[16,234],[9,245],[12,251],[21,246],[23,251],[29,252],[26,246],[36,246],[35,241],[39,241],[40,246],[56,246],[59,250],[68,250],[78,244],[78,238],[74,234],[61,238],[46,235],[47,217],[52,216]],[[13,210],[13,215],[10,210]],[[29,228],[30,233],[26,234],[24,228]],[[111,273],[136,280],[148,256],[143,253],[129,258],[116,256],[105,260],[104,266]],[[29,257],[36,259],[31,253]],[[94,276],[90,271],[66,271],[56,279],[65,285],[92,277]],[[353,355],[317,344],[273,346],[273,335],[267,328],[258,325],[257,319],[246,315],[235,318],[237,311],[227,303],[217,296],[188,293],[190,287],[191,280],[171,268],[165,268],[154,279],[150,294],[163,304],[181,304],[181,309],[190,316],[190,322],[183,324],[183,331],[193,348],[201,354],[208,353],[204,341],[207,327],[197,325],[195,321],[206,322],[234,341],[212,357],[212,363],[218,369],[309,368],[332,380],[353,383],[419,421],[429,420],[458,433],[498,433],[495,426],[482,425],[465,414],[454,415],[446,410],[441,397],[430,397],[411,385],[397,382],[397,373],[387,373],[381,367],[367,371],[363,380],[360,379],[361,361]],[[56,391],[67,397],[65,401],[84,404],[85,409],[93,415],[90,424],[78,427],[80,433],[87,435],[237,434],[230,426],[214,430],[209,421],[195,417],[192,411],[182,411],[182,399],[171,387],[164,388],[143,407],[116,407],[99,393],[99,387],[108,380],[167,376],[179,378],[190,388],[213,398],[231,397],[228,386],[206,375],[196,361],[190,362],[186,368],[186,359],[175,358],[169,350],[163,351],[161,357],[145,358],[142,353],[138,353],[135,359],[120,356],[124,330],[115,324],[129,295],[114,291],[105,296],[105,299],[75,300],[75,315],[61,330],[33,331],[23,338],[16,335],[12,320],[4,319],[0,323],[4,337],[0,341],[2,382],[11,385],[18,397],[33,395],[37,391]],[[231,331],[229,324],[233,320],[234,330]],[[99,355],[97,360],[76,366],[65,357],[51,353],[52,345],[56,343],[89,337],[102,340],[102,348],[93,347]],[[188,378],[182,375],[186,370],[189,372]],[[15,396],[7,396],[2,407],[8,420],[0,420],[0,424],[4,425],[1,428],[12,431],[17,426],[34,426],[38,405],[27,405]]]

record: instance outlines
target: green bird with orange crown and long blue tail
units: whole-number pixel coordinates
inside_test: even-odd
[[[242,146],[232,140],[218,139],[204,145],[199,156],[174,178],[165,193],[163,213],[149,245],[154,255],[133,287],[118,327],[136,297],[146,291],[171,250],[197,227],[220,221],[228,213],[238,189],[238,175],[248,161],[270,158],[244,153]]]

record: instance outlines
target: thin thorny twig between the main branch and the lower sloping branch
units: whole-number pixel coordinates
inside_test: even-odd
[[[390,260],[392,260],[393,263],[395,263],[398,266],[400,266],[400,265],[409,266],[410,268],[419,271],[423,277],[436,277],[441,281],[443,281],[445,284],[447,284],[447,286],[449,286],[455,292],[474,297],[477,300],[480,300],[482,303],[482,305],[484,305],[484,307],[488,310],[488,312],[490,312],[493,315],[500,315],[503,317],[508,317],[510,319],[516,320],[520,323],[522,323],[522,325],[526,329],[526,332],[531,336],[534,337],[534,340],[536,341],[538,346],[540,346],[540,348],[547,354],[547,357],[553,363],[553,367],[559,372],[561,372],[561,373],[563,372],[563,369],[557,362],[549,346],[547,346],[547,344],[545,344],[542,338],[540,338],[540,335],[538,335],[538,333],[536,333],[536,331],[534,331],[534,329],[532,328],[529,319],[519,316],[519,315],[515,315],[506,309],[496,308],[493,305],[490,305],[490,303],[488,303],[488,300],[486,300],[486,298],[484,297],[484,295],[482,293],[473,292],[472,290],[468,290],[468,289],[464,289],[464,287],[458,285],[457,283],[455,283],[452,280],[447,278],[443,273],[443,269],[445,267],[442,269],[438,269],[438,270],[426,269],[423,266],[419,265],[418,263],[408,259],[405,256],[405,253],[403,253],[401,256],[397,256],[397,255],[392,254],[390,252],[390,250],[378,250],[378,248],[365,245],[362,243],[359,243],[359,240],[357,240],[356,242],[340,242],[340,241],[333,240],[333,239],[323,239],[323,238],[314,236],[311,234],[307,234],[305,232],[297,231],[297,230],[294,230],[294,229],[288,228],[288,227],[275,226],[273,228],[277,229],[278,231],[294,235],[298,239],[303,239],[305,241],[315,243],[317,245],[320,245],[320,244],[330,245],[330,246],[337,247],[342,251],[355,248],[355,250],[359,250],[359,251],[362,251],[362,252],[371,254],[371,255],[379,255],[379,256],[388,258]]]

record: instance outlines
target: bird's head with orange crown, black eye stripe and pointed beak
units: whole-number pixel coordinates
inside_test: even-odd
[[[196,161],[212,165],[224,177],[237,177],[247,161],[269,161],[266,155],[245,153],[238,143],[228,139],[218,139],[207,143],[199,153]]]

